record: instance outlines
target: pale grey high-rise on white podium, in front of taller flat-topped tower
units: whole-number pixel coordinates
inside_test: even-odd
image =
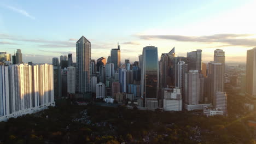
[[[199,70],[189,70],[188,73],[185,73],[184,86],[185,86],[184,87],[185,103],[188,105],[199,104],[199,97],[200,97]]]

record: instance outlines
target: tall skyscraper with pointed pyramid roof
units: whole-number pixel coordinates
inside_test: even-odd
[[[78,93],[88,93],[91,92],[91,43],[82,36],[76,45],[76,89]]]

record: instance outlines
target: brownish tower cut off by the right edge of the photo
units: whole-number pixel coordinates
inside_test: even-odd
[[[247,50],[246,95],[256,106],[256,47],[252,50]]]

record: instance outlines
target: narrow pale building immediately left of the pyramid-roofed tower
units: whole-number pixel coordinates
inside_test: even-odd
[[[67,68],[67,89],[68,94],[75,94],[75,67]]]

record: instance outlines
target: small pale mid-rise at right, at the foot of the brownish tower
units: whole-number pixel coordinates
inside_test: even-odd
[[[224,112],[224,115],[226,115],[227,114],[226,107],[227,107],[227,99],[228,99],[226,93],[217,91],[215,97],[216,97],[216,102],[215,102],[216,109],[222,109]]]

